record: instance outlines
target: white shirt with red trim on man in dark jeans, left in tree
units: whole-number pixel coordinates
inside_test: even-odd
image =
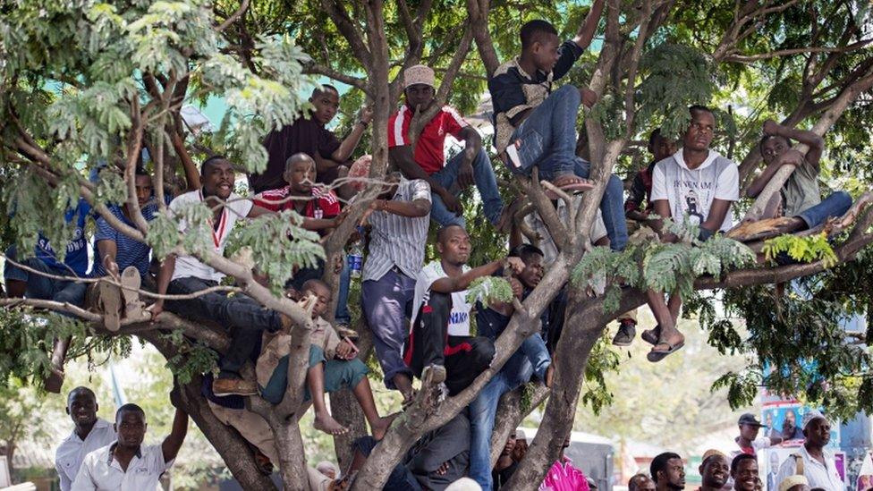
[[[203,200],[203,195],[200,190],[194,190],[190,192],[186,192],[185,194],[177,196],[170,203],[170,211],[177,213],[182,207],[189,205],[190,203],[198,203]],[[211,232],[210,240],[213,243],[213,250],[215,250],[216,254],[219,256],[223,256],[225,253],[225,242],[227,241],[228,235],[230,235],[233,230],[233,224],[236,224],[237,220],[241,220],[249,215],[251,211],[251,207],[253,206],[250,199],[243,199],[242,196],[231,193],[230,197],[227,199],[227,204],[222,210],[220,221],[218,222],[218,227],[213,228]],[[185,223],[185,220],[179,221],[179,232],[185,233],[187,232],[188,224]],[[221,281],[222,278],[225,277],[222,273],[217,272],[212,267],[204,264],[198,258],[193,256],[179,256],[176,258],[176,267],[173,271],[173,279],[184,278],[188,276],[194,276],[196,278],[200,278],[202,280],[207,281]]]

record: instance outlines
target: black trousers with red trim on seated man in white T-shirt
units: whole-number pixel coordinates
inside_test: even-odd
[[[445,367],[449,395],[467,388],[494,360],[494,343],[487,337],[448,335],[452,297],[430,292],[422,305],[406,343],[404,361],[417,377],[428,365]]]

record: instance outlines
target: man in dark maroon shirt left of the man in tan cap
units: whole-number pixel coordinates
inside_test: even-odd
[[[326,125],[339,110],[339,91],[333,86],[323,85],[312,91],[309,102],[314,107],[312,114],[301,116],[294,123],[267,135],[264,140],[268,155],[267,169],[262,174],[252,174],[249,177],[249,186],[254,192],[284,187],[285,163],[288,157],[298,153],[309,155],[315,160],[318,182],[330,184],[348,173],[348,167],[344,164],[352,157],[360,137],[373,119],[372,109],[362,110],[352,132],[340,141],[333,131],[326,129]]]

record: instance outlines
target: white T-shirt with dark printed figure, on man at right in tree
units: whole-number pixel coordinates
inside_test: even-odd
[[[714,199],[740,199],[740,173],[736,164],[709,150],[703,164],[689,169],[680,149],[655,165],[652,172],[652,201],[666,199],[674,221],[682,222],[688,216],[691,224],[701,224],[709,215]],[[733,216],[728,211],[719,230],[728,231]]]

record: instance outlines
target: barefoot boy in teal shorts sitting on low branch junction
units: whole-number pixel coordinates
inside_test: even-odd
[[[367,417],[373,436],[381,440],[391,419],[381,418],[373,401],[373,391],[367,379],[367,366],[355,358],[358,350],[351,340],[339,336],[333,326],[324,319],[331,292],[321,280],[309,280],[302,288],[304,307],[314,301],[312,320],[315,329],[309,334],[309,370],[306,375],[307,401],[315,408],[314,427],[329,435],[342,435],[348,431],[327,411],[325,393],[348,388]],[[288,384],[288,362],[291,351],[291,334],[279,333],[265,337],[264,349],[258,358],[256,372],[261,386],[261,395],[267,401],[282,402]]]

